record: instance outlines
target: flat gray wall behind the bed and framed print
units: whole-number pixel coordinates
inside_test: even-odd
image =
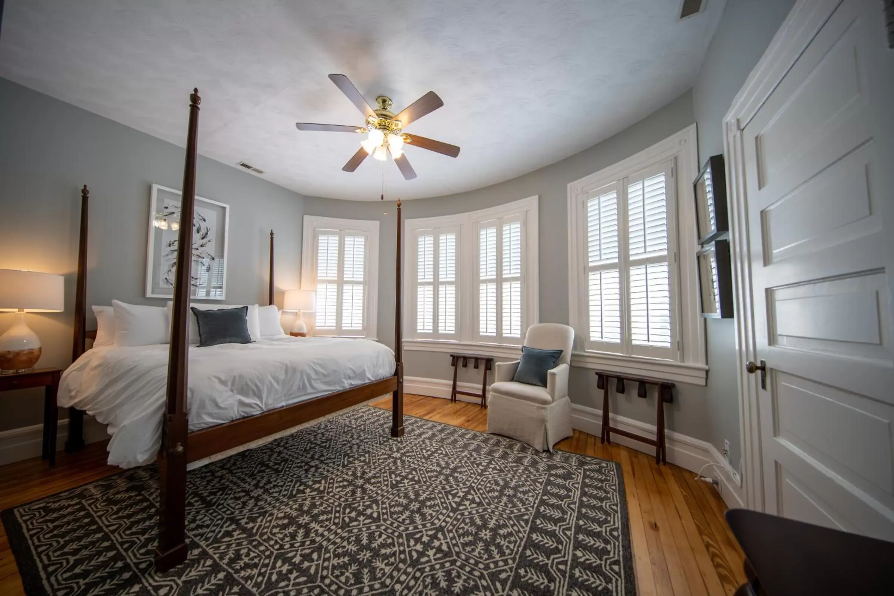
[[[88,305],[112,298],[164,305],[143,298],[149,187],[180,189],[184,152],[9,80],[0,79],[0,105],[0,268],[65,276],[65,312],[26,315],[43,343],[38,366],[64,367],[71,361],[81,185],[90,189]],[[171,109],[185,114],[187,105]],[[299,287],[300,195],[204,157],[197,193],[230,206],[227,302],[266,304],[271,229],[277,286]],[[12,316],[0,314],[0,332]],[[88,324],[96,324],[92,313]],[[42,404],[39,390],[0,393],[0,431],[39,424]]]

